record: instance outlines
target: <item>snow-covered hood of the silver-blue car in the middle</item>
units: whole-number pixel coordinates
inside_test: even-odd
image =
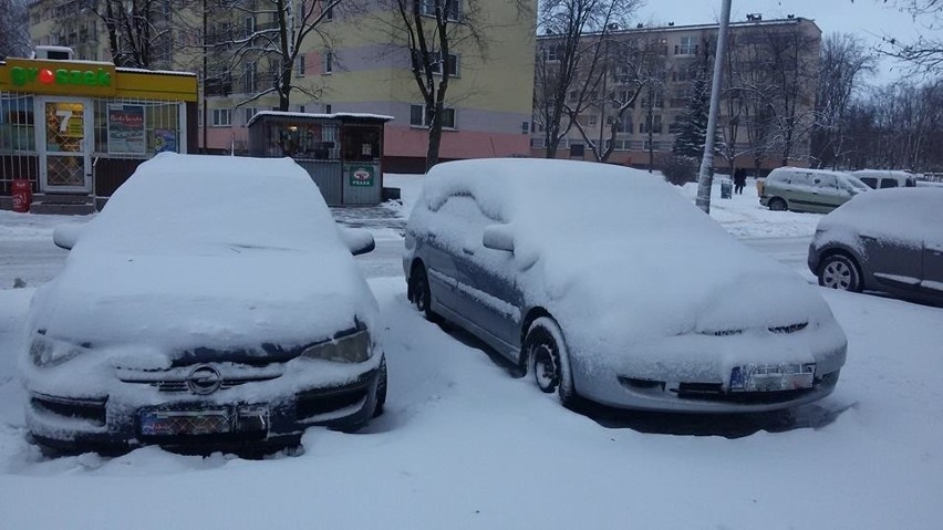
[[[683,334],[831,323],[816,288],[726,233],[700,240],[634,238],[603,251],[547,248],[525,273],[525,298],[557,315],[568,341],[631,344]],[[574,267],[573,262],[579,262]]]

